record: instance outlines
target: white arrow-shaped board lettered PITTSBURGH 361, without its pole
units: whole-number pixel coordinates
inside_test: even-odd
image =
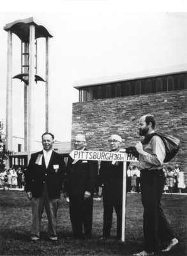
[[[105,152],[105,151],[86,151],[73,150],[70,153],[72,159],[76,160],[95,160],[95,161],[119,161],[119,162],[135,162],[138,159],[132,154],[124,152]]]

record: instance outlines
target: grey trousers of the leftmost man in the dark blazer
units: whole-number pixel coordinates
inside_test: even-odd
[[[49,198],[46,186],[44,186],[43,194],[39,198],[32,198],[31,207],[33,214],[33,223],[31,227],[31,235],[40,236],[41,216],[45,207],[48,218],[48,234],[49,236],[57,236],[56,218],[58,203],[59,199]]]

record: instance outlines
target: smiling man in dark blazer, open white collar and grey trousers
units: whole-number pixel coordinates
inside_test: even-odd
[[[66,166],[63,158],[52,150],[54,135],[45,132],[41,139],[43,150],[31,155],[26,172],[25,190],[31,200],[33,213],[31,240],[40,239],[41,215],[45,207],[49,221],[49,239],[56,241],[57,206]]]

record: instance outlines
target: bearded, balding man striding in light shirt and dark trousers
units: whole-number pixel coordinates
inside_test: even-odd
[[[144,250],[136,256],[154,255],[159,242],[168,243],[162,252],[168,252],[178,243],[161,209],[161,195],[165,184],[163,162],[166,158],[166,144],[154,132],[154,116],[144,115],[139,121],[139,134],[144,141],[137,142],[138,168],[141,172],[142,204],[144,206]]]

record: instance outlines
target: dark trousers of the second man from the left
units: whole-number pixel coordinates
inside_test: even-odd
[[[75,237],[91,237],[93,221],[93,195],[84,199],[84,195],[70,195],[70,220]]]

